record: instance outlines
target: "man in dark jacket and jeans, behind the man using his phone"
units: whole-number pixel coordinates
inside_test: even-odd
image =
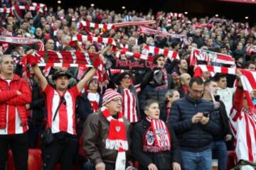
[[[215,123],[220,126],[220,133],[213,137],[212,141],[212,156],[213,159],[218,159],[218,169],[227,169],[228,164],[228,152],[225,141],[232,139],[232,132],[228,123],[228,115],[225,111],[225,104],[220,101],[215,95],[217,94],[217,83],[214,80],[208,80],[204,82],[204,94],[203,99],[213,102],[214,111],[211,115],[215,115]]]

